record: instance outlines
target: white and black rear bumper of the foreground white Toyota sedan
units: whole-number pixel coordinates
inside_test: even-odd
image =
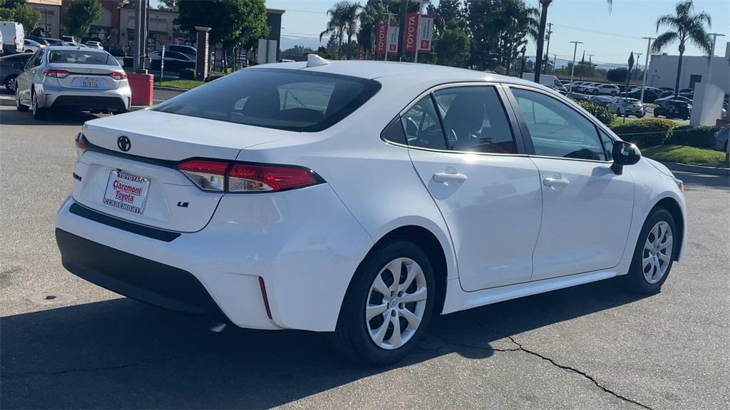
[[[334,330],[350,279],[372,247],[327,184],[225,195],[203,229],[172,239],[101,214],[103,206],[92,211],[102,217],[89,217],[74,205],[69,198],[56,217],[66,269],[167,309],[220,309],[242,328]]]

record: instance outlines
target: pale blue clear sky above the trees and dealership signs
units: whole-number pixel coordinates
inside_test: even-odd
[[[311,45],[312,39],[318,39],[326,26],[327,10],[336,2],[266,0],[266,7],[286,10],[282,21],[283,36],[299,38]],[[438,0],[432,3],[438,4]],[[539,0],[526,0],[526,3],[539,7]],[[647,40],[642,37],[656,37],[656,18],[672,13],[676,3],[675,0],[614,0],[609,9],[605,0],[554,0],[548,9],[548,23],[553,23],[550,58],[557,54],[559,59],[572,59],[574,46],[570,42],[578,41],[583,44],[578,45],[577,60],[585,50],[585,58],[593,54],[593,62],[623,65],[633,51],[642,53],[639,60],[643,65]],[[715,55],[725,55],[726,42],[730,41],[730,0],[695,0],[694,6],[695,12],[705,11],[712,16],[712,28],[708,32],[725,34],[725,37],[718,37],[715,47]],[[662,32],[660,29],[659,33]],[[536,46],[530,42],[527,55],[534,55],[535,50]],[[678,54],[677,44],[665,51]],[[702,52],[689,46],[685,55],[702,55]]]

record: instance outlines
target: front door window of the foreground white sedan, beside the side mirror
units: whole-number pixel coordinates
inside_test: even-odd
[[[606,160],[596,125],[556,98],[511,88],[535,154],[556,158]]]

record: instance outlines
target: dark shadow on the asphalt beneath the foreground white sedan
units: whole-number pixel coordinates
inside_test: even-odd
[[[2,318],[1,396],[4,409],[267,408],[442,355],[489,360],[504,338],[636,300],[611,280],[435,317],[385,368],[343,361],[322,333],[212,333],[126,298],[59,307]]]

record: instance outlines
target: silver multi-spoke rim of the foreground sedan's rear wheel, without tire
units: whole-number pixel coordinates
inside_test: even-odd
[[[365,306],[370,338],[382,349],[397,349],[413,337],[426,312],[426,276],[410,258],[391,260],[375,276]]]

